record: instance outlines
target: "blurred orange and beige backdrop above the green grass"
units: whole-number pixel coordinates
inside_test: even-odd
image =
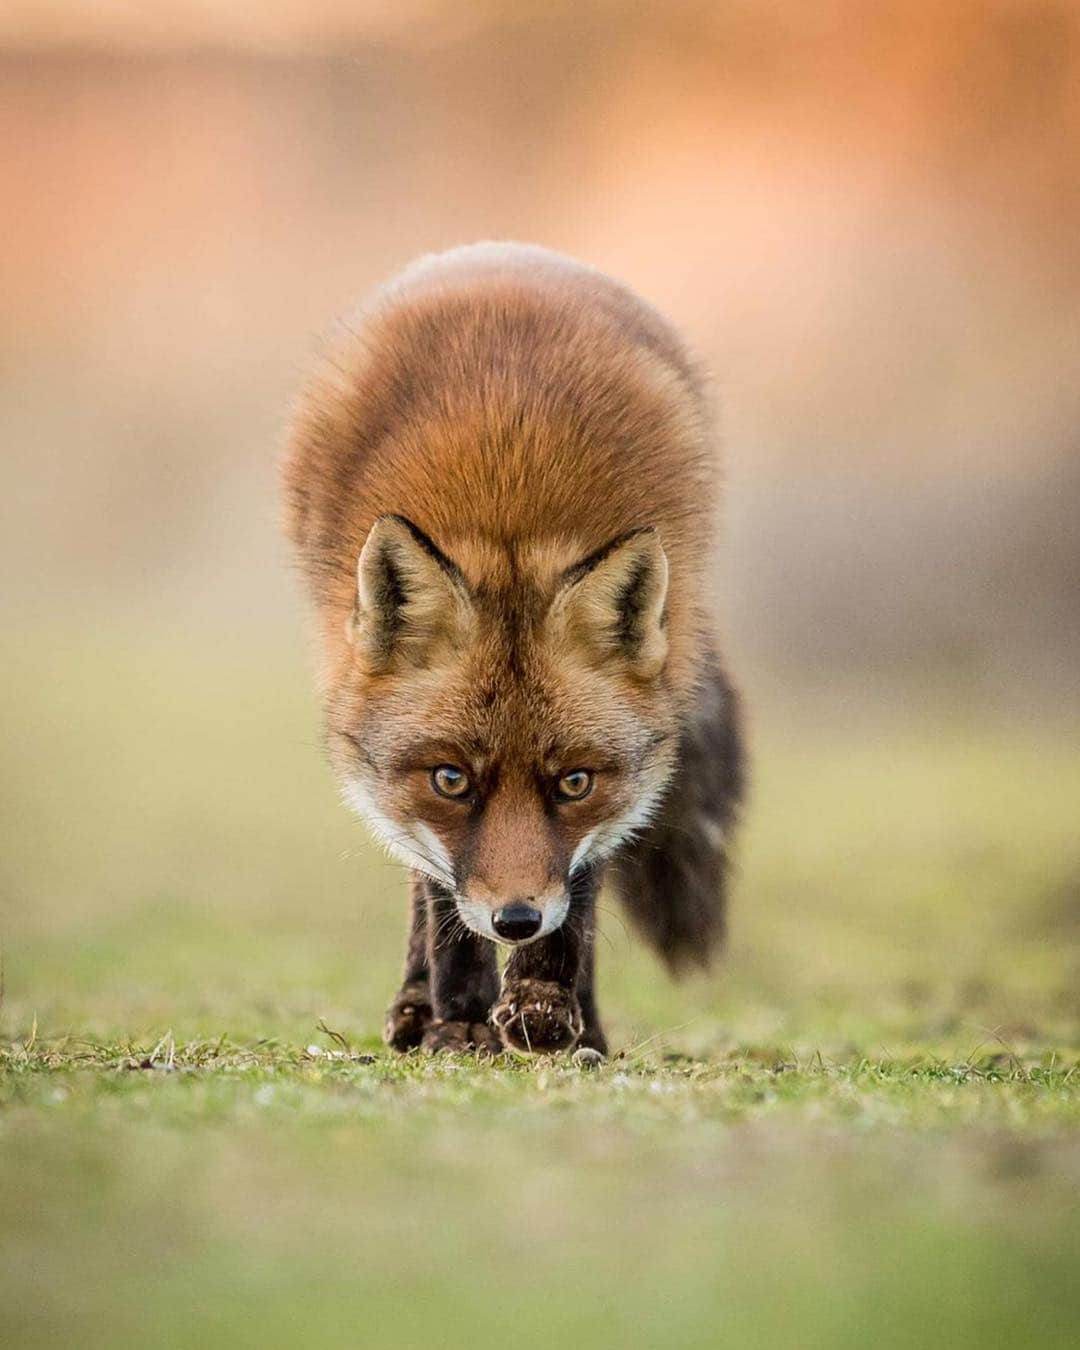
[[[293,640],[313,335],[517,238],[714,370],[751,668],[1080,695],[1076,5],[72,0],[0,51],[9,633]]]

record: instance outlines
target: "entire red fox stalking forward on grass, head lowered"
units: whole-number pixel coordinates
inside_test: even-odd
[[[288,529],[344,798],[412,869],[394,1049],[606,1053],[605,875],[674,969],[718,944],[742,749],[717,477],[674,329],[547,250],[421,258],[328,342]]]

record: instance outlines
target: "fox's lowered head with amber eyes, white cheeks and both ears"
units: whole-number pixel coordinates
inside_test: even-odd
[[[443,552],[382,516],[328,690],[346,799],[502,942],[558,929],[574,880],[640,829],[671,775],[668,566],[637,529]]]

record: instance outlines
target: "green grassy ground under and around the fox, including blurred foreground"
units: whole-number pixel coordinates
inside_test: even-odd
[[[1075,726],[760,688],[724,971],[608,911],[621,1053],[477,1066],[294,659],[4,656],[0,1343],[1080,1339]]]

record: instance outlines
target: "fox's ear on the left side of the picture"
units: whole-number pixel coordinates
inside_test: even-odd
[[[473,617],[460,568],[404,516],[379,516],[360,549],[352,640],[371,671],[431,660]]]

